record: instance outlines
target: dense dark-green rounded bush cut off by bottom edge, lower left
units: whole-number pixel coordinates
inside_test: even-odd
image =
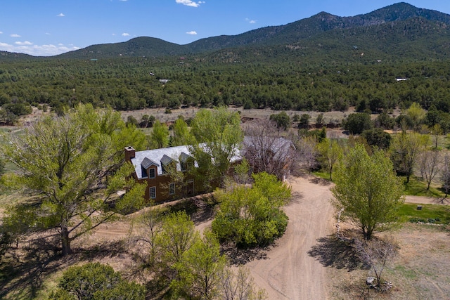
[[[51,300],[143,300],[146,288],[136,282],[123,280],[120,273],[101,263],[71,266],[59,280]]]

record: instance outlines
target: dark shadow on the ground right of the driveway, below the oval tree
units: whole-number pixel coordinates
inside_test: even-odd
[[[323,266],[348,271],[364,267],[352,245],[340,240],[338,237],[328,235],[321,237],[318,244],[308,251],[309,256],[317,259]]]

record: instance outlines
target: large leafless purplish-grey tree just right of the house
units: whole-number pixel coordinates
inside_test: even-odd
[[[293,142],[280,136],[273,121],[258,119],[245,125],[243,155],[253,171],[265,171],[280,179],[288,176],[297,161]]]

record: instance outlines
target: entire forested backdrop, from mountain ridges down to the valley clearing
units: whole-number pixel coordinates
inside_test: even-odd
[[[400,3],[187,45],[139,37],[50,58],[1,53],[0,123],[38,103],[390,112],[416,102],[448,113],[449,24],[450,15]]]

